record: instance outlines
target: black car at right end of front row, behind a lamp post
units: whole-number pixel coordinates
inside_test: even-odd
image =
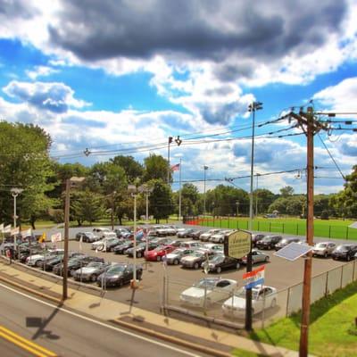
[[[123,286],[134,277],[133,264],[115,264],[96,279],[98,286]],[[141,279],[143,268],[137,265],[137,279]]]

